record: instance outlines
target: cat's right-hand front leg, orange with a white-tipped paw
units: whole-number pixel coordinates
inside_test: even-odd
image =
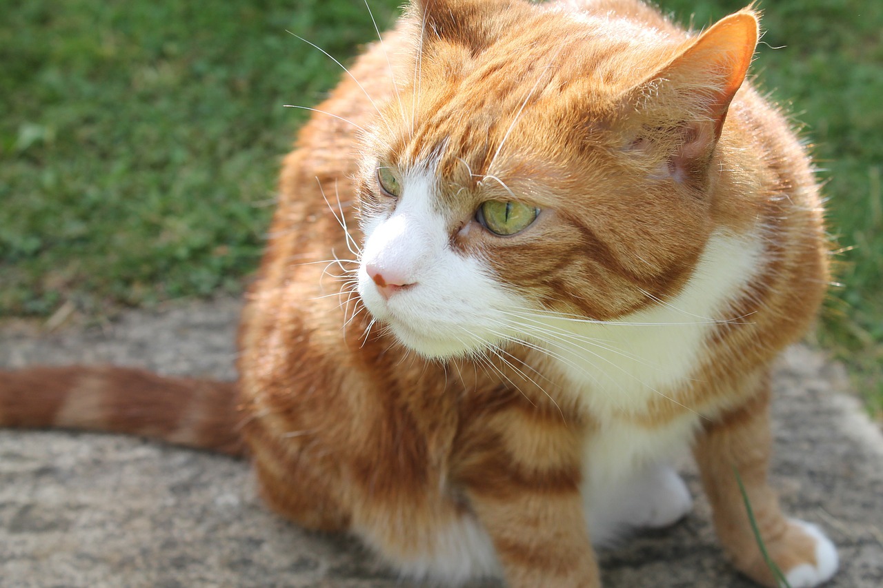
[[[766,481],[772,443],[768,378],[753,386],[756,393],[707,423],[694,446],[714,526],[738,569],[760,584],[774,588],[781,584],[758,547],[741,479],[766,553],[791,588],[818,586],[834,576],[837,552],[818,528],[781,513],[778,497]]]

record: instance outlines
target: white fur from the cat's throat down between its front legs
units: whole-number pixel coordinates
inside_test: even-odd
[[[614,541],[631,526],[670,524],[691,509],[686,486],[664,464],[685,452],[701,417],[683,411],[649,427],[629,417],[652,417],[647,411],[655,396],[680,403],[706,337],[717,322],[736,318],[731,302],[757,275],[762,246],[756,236],[714,234],[675,298],[614,324],[550,320],[547,328],[561,337],[549,351],[598,423],[586,440],[583,466],[595,542]]]

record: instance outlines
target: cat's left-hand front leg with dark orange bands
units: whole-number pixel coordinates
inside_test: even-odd
[[[461,480],[513,588],[600,588],[580,494],[580,427],[516,409],[473,441]]]

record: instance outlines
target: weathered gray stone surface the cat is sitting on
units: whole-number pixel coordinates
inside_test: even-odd
[[[125,313],[113,323],[0,327],[0,365],[100,363],[232,378],[238,303]],[[804,347],[776,374],[773,478],[789,512],[824,527],[830,586],[883,586],[883,437],[843,393],[841,368]],[[685,460],[696,509],[602,555],[619,588],[751,584],[723,561]],[[0,586],[408,586],[358,542],[268,512],[245,462],[113,435],[0,430]],[[497,586],[495,583],[475,584]]]

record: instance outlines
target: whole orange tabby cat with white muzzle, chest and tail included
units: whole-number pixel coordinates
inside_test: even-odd
[[[823,583],[834,547],[766,483],[768,366],[827,269],[804,150],[744,83],[757,39],[750,9],[687,34],[637,0],[416,0],[285,161],[238,400],[34,368],[0,421],[241,430],[298,524],[525,587],[599,586],[592,542],[683,516],[689,445],[736,567],[776,585],[738,472],[790,585]]]

